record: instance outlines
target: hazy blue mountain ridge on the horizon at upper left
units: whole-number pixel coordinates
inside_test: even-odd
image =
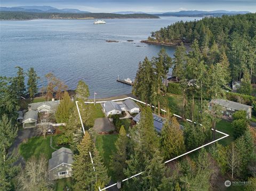
[[[0,11],[30,12],[30,13],[90,13],[88,11],[80,11],[78,9],[57,9],[52,6],[0,7]]]

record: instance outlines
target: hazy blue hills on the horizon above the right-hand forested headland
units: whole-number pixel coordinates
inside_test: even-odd
[[[246,14],[250,13],[249,11],[179,11],[179,12],[167,12],[162,14],[155,14],[158,16],[222,16],[222,15],[235,15],[235,14]]]

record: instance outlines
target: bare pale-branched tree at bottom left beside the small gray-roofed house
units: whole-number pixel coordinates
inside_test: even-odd
[[[18,176],[17,190],[53,190],[52,185],[45,157],[41,155],[37,160],[33,156]]]

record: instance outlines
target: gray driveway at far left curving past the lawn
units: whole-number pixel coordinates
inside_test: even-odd
[[[23,140],[31,137],[39,136],[39,135],[40,133],[36,130],[36,128],[20,129],[18,131],[18,135],[15,138],[12,146],[8,150],[9,154],[12,153],[13,151],[14,151],[13,153],[14,155],[18,154],[19,145],[23,142]],[[25,161],[22,156],[20,156],[19,159],[15,162],[15,164],[19,164],[19,163],[21,163],[21,165],[25,165]]]

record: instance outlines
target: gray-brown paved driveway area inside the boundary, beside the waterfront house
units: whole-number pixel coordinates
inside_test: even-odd
[[[108,131],[114,131],[115,126],[113,123],[109,121],[108,118],[98,118],[94,121],[93,129],[97,132],[108,132]]]

